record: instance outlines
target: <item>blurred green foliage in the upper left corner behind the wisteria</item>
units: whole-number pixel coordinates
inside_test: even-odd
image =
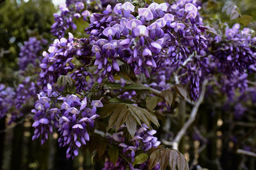
[[[51,0],[17,1],[0,3],[0,82],[12,83],[20,46],[29,36],[51,38],[51,25],[56,11]]]

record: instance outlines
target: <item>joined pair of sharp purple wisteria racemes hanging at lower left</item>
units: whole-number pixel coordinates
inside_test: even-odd
[[[90,140],[87,125],[94,126],[95,118],[99,117],[96,110],[103,106],[100,101],[92,101],[91,105],[92,108],[89,108],[86,97],[83,101],[73,94],[62,97],[48,83],[45,92],[38,94],[38,101],[32,110],[35,114],[32,139],[41,136],[41,144],[44,144],[49,132],[52,133],[53,127],[56,127],[60,131],[60,146],[68,146],[67,158],[74,159],[78,155],[78,148]]]

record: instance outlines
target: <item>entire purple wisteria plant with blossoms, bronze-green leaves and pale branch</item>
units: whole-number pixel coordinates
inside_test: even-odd
[[[85,148],[103,169],[188,169],[179,143],[204,95],[225,94],[236,103],[236,119],[250,111],[241,101],[255,101],[248,83],[256,71],[252,29],[205,25],[194,0],[100,1],[93,10],[95,2],[61,6],[47,48],[43,39],[24,43],[24,81],[16,89],[0,85],[0,117],[11,113],[15,122],[32,105],[33,140],[43,145],[56,132],[68,159]],[[31,64],[40,73],[26,74]],[[193,107],[188,122],[176,137],[160,136],[157,129],[170,130],[168,118],[182,103]]]

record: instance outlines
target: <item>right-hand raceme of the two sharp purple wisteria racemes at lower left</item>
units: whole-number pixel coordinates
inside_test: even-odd
[[[87,125],[94,126],[95,118],[99,117],[96,114],[97,107],[102,107],[100,101],[92,101],[92,109],[86,107],[86,97],[81,101],[79,97],[72,94],[63,98],[61,105],[62,117],[59,122],[60,138],[58,142],[60,146],[68,146],[67,158],[78,155],[78,149],[81,145],[86,145],[86,141],[90,140]]]

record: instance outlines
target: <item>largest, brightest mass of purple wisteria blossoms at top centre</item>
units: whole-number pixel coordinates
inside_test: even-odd
[[[201,34],[205,27],[196,6],[188,3],[182,10],[178,7],[170,11],[167,3],[152,3],[135,11],[126,2],[116,4],[113,10],[109,5],[102,14],[93,13],[85,31],[93,45],[98,81],[105,75],[113,81],[113,73],[120,71],[118,60],[129,64],[134,73],[150,77],[148,69],[182,61],[188,53],[200,53],[207,47]],[[183,11],[182,16],[176,16],[177,11]]]

